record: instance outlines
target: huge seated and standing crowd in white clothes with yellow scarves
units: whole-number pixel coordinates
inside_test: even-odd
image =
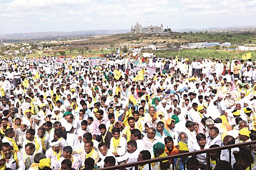
[[[251,59],[152,56],[137,71],[129,54],[102,61],[0,59],[0,170],[92,170],[256,140]],[[231,151],[212,151],[210,167],[256,169],[255,147]],[[204,170],[207,156],[161,167],[173,164]]]

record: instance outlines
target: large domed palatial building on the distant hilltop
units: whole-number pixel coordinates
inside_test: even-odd
[[[161,26],[146,26],[142,27],[138,22],[133,26],[131,26],[131,33],[162,33],[163,32],[163,24]]]

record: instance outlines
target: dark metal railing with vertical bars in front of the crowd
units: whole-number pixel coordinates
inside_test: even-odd
[[[240,144],[230,144],[230,145],[227,145],[227,146],[222,146],[222,147],[214,147],[214,148],[210,148],[210,149],[205,149],[205,150],[198,150],[198,151],[194,151],[194,152],[189,152],[189,153],[181,153],[181,154],[177,154],[177,155],[172,155],[172,156],[166,156],[166,157],[162,157],[162,158],[154,158],[154,159],[148,159],[148,160],[143,160],[143,161],[137,161],[137,162],[132,162],[132,163],[129,163],[129,164],[119,164],[119,165],[116,165],[116,166],[112,166],[112,167],[104,167],[104,168],[100,168],[101,170],[122,170],[122,169],[125,169],[126,167],[135,167],[135,170],[138,170],[138,166],[139,165],[145,165],[145,164],[148,164],[149,166],[149,170],[150,169],[150,164],[151,163],[155,163],[155,162],[160,162],[160,167],[162,167],[162,161],[166,161],[166,160],[171,160],[172,159],[172,170],[175,170],[175,165],[174,165],[174,159],[175,158],[180,158],[180,157],[187,157],[187,156],[196,156],[198,154],[202,154],[202,153],[206,153],[207,155],[207,164],[206,164],[206,167],[207,167],[207,170],[211,170],[210,168],[210,153],[212,151],[219,151],[221,152],[221,150],[229,150],[229,163],[231,165],[231,149],[232,148],[235,148],[235,147],[238,147],[239,150],[243,147],[246,147],[246,146],[249,146],[249,150],[251,150],[251,145],[253,144],[256,144],[256,141],[250,141],[250,142],[243,142],[243,143],[240,143]],[[249,157],[249,162],[251,162],[251,156],[248,156]],[[239,152],[239,160],[241,160],[241,152]],[[195,159],[196,161],[196,159]],[[160,168],[162,169],[162,168]],[[240,164],[240,170],[242,169],[241,168],[241,164]],[[186,166],[184,166],[184,170],[186,170]],[[231,169],[231,166],[230,166],[230,170]],[[250,170],[251,170],[251,167],[250,167]]]

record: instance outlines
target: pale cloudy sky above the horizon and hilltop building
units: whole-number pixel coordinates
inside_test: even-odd
[[[255,25],[256,0],[0,0],[0,34]]]

